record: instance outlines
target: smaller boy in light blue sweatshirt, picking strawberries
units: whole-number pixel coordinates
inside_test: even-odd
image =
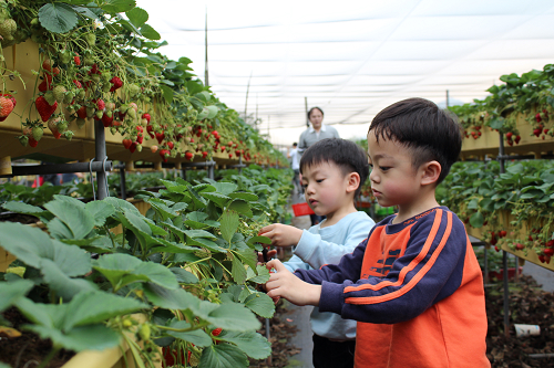
[[[375,225],[366,212],[355,207],[353,199],[368,177],[369,167],[366,153],[353,141],[319,140],[304,153],[300,172],[306,201],[316,214],[327,218],[309,230],[274,223],[259,231],[271,239],[273,245],[296,245],[293,257],[284,263],[290,272],[338,263]],[[315,307],[310,323],[314,367],[353,367],[356,320]]]

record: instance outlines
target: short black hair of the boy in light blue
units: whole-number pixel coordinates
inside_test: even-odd
[[[300,159],[300,174],[304,168],[321,162],[334,162],[345,176],[349,172],[358,172],[360,186],[356,189],[355,197],[358,196],[369,176],[368,155],[351,140],[326,138],[311,145]]]

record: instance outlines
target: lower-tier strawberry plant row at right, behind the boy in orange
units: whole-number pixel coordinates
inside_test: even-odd
[[[496,161],[456,162],[439,186],[438,200],[496,251],[554,269],[554,162],[507,162],[505,174]]]

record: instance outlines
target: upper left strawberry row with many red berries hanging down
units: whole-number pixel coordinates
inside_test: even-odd
[[[160,52],[166,43],[147,20],[132,0],[0,2],[2,48],[13,48],[0,54],[0,128],[11,137],[19,130],[22,145],[8,154],[51,149],[41,140],[91,139],[95,119],[114,135],[107,139],[117,143],[109,147],[113,158],[132,160],[147,147],[141,158],[151,161],[240,157],[285,164],[192,73],[191,60]]]

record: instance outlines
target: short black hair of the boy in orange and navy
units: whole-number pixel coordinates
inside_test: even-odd
[[[382,137],[410,149],[414,168],[438,161],[441,174],[437,185],[444,180],[462,149],[462,132],[455,115],[424,98],[408,98],[386,107],[371,122],[371,130],[377,141]]]

